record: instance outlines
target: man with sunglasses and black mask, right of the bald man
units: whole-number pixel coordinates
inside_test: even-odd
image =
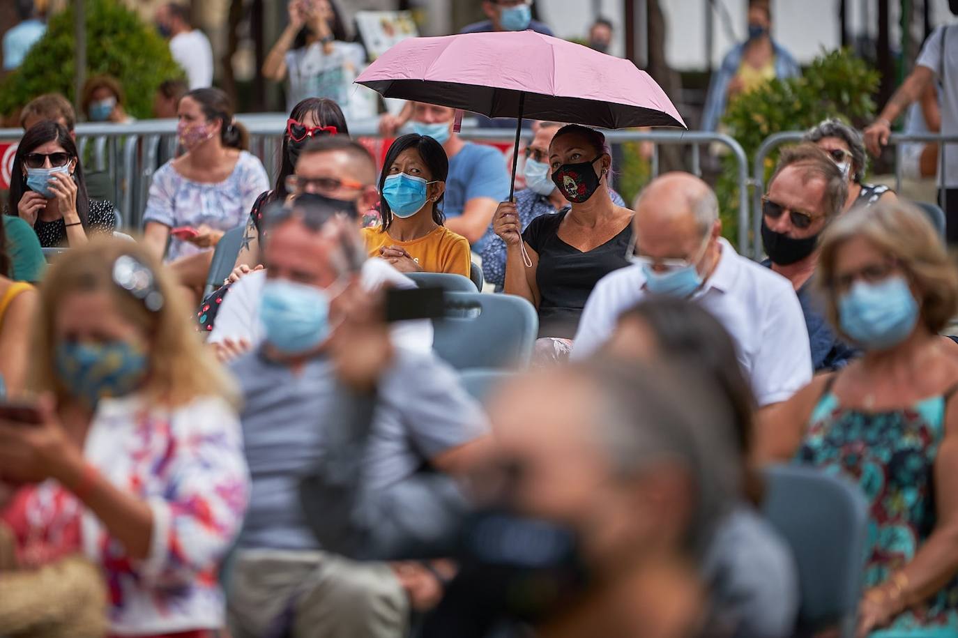
[[[786,148],[762,198],[764,265],[791,282],[809,330],[811,365],[816,372],[843,367],[857,353],[838,340],[815,299],[812,278],[818,238],[841,215],[848,180],[821,148]]]

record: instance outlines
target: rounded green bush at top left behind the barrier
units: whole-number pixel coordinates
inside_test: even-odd
[[[50,19],[47,33],[0,84],[0,113],[12,113],[52,91],[72,101],[74,52],[71,6]],[[160,82],[183,77],[166,40],[118,0],[87,0],[86,59],[88,78],[108,74],[120,80],[126,112],[136,118],[150,117]]]

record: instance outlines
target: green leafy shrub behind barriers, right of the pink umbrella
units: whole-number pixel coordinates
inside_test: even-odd
[[[872,96],[878,90],[878,71],[848,49],[815,58],[801,78],[771,80],[754,91],[734,98],[722,124],[739,141],[748,156],[749,171],[755,151],[773,133],[805,130],[827,118],[855,126],[865,125],[875,111]],[[765,181],[775,167],[777,151],[765,159]],[[734,158],[722,161],[717,184],[722,226],[727,238],[738,236],[739,187]]]

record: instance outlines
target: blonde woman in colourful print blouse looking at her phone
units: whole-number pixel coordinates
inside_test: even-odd
[[[178,302],[142,246],[71,250],[40,291],[35,414],[0,421],[0,474],[31,484],[0,518],[25,558],[100,565],[114,635],[222,627],[218,565],[246,506],[234,391]]]

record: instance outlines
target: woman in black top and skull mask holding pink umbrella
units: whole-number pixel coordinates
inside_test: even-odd
[[[612,157],[599,131],[563,126],[549,146],[548,163],[571,208],[536,217],[521,232],[515,204],[502,202],[492,226],[506,243],[505,292],[525,297],[538,309],[538,353],[565,358],[592,288],[628,265],[632,211],[612,202]]]

